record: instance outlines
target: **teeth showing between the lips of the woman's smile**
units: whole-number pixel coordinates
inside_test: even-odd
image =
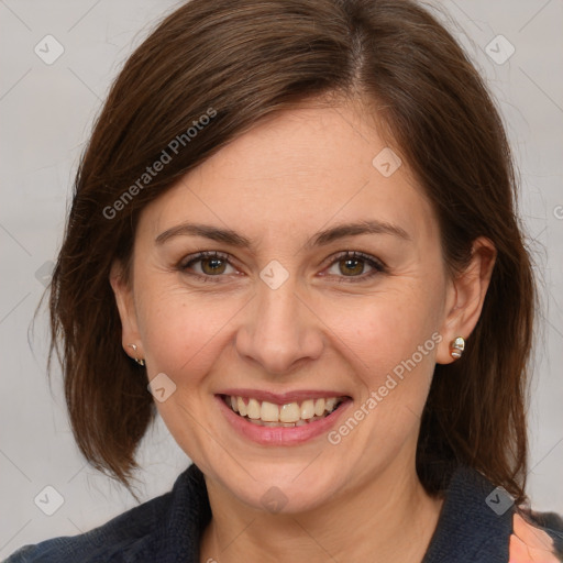
[[[221,395],[221,398],[233,412],[249,422],[278,428],[302,427],[322,420],[350,399],[350,397],[327,397],[276,405],[252,397]]]

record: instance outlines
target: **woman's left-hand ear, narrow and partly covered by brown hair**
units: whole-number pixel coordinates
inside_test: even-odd
[[[139,333],[133,288],[125,278],[123,265],[120,261],[114,261],[111,265],[110,284],[121,318],[121,345],[133,360],[143,358],[144,351]],[[135,344],[136,350],[131,347],[131,344]]]

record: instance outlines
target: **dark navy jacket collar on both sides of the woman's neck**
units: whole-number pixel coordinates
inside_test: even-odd
[[[179,475],[169,495],[169,508],[151,542],[154,556],[162,563],[197,563],[200,537],[211,520],[201,471],[191,464]],[[460,466],[444,495],[422,563],[506,563],[515,512],[506,493],[477,471]]]

